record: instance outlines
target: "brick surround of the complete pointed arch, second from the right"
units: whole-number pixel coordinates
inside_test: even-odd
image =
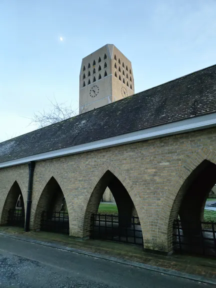
[[[111,163],[110,161],[106,161],[104,165],[95,173],[95,175],[92,177],[92,180],[89,182],[88,190],[86,191],[86,193],[84,194],[82,198],[82,201],[81,201],[82,204],[79,207],[79,215],[78,215],[78,218],[80,219],[79,221],[80,237],[87,236],[84,231],[84,215],[86,213],[86,208],[87,208],[89,199],[93,193],[94,188],[96,187],[99,180],[107,171],[110,171],[122,183],[122,185],[127,190],[135,206],[135,209],[137,211],[139,221],[141,224],[143,241],[145,244],[145,240],[146,240],[145,247],[147,247],[148,241],[149,242],[151,241],[151,234],[150,234],[150,229],[149,229],[148,217],[144,210],[144,205],[142,203],[142,200],[140,196],[138,195],[138,193],[136,192],[134,186],[128,179],[128,177],[121,171],[120,168],[118,168],[115,164]]]

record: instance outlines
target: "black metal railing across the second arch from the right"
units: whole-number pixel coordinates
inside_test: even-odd
[[[131,217],[130,221],[125,224],[119,221],[118,215],[92,214],[90,237],[143,246],[138,217]]]

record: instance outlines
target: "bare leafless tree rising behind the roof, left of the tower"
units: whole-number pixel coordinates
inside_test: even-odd
[[[55,98],[54,101],[48,100],[50,102],[49,110],[43,109],[42,112],[35,112],[32,118],[30,118],[30,124],[35,124],[38,128],[41,128],[78,114],[78,109],[73,109],[71,103],[69,106],[66,106],[65,103],[58,103]],[[85,111],[86,110],[83,108],[82,112]]]

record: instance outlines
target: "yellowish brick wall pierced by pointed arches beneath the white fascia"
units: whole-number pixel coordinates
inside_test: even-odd
[[[53,176],[64,194],[70,235],[84,238],[90,195],[110,170],[128,191],[142,228],[144,247],[172,249],[172,221],[178,213],[184,180],[204,159],[216,163],[216,128],[36,162],[30,228],[38,228],[40,195]],[[7,193],[17,181],[26,208],[27,164],[0,169],[0,214]]]

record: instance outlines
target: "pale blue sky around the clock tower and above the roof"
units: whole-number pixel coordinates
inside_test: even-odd
[[[77,109],[81,59],[106,43],[135,92],[215,64],[215,15],[216,0],[0,0],[0,141],[49,100]]]

